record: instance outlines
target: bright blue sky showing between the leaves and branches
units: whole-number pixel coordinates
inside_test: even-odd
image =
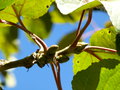
[[[94,12],[93,20],[99,27],[103,27],[105,21],[109,17],[102,12]],[[48,46],[57,44],[62,36],[73,31],[77,28],[77,24],[55,24],[52,28],[50,36],[44,41]],[[93,30],[90,25],[86,32]],[[38,49],[38,47],[27,39],[23,31],[19,31],[20,51],[16,54],[18,59],[24,58]],[[88,38],[85,40],[88,42]],[[72,72],[72,58],[66,63],[61,64],[61,82],[63,90],[72,90],[71,81],[73,78]],[[15,74],[17,84],[14,88],[6,87],[5,90],[57,90],[53,78],[53,73],[50,66],[39,68],[34,65],[27,71],[26,68],[16,68],[13,73]],[[11,81],[12,82],[12,81]]]

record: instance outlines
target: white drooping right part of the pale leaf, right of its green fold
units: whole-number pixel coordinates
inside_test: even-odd
[[[118,10],[120,6],[120,0],[101,0],[101,3],[105,7],[107,13],[110,16],[110,19],[113,25],[120,30],[120,10]]]

